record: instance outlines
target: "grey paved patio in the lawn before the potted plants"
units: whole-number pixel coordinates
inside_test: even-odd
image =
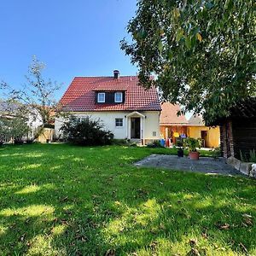
[[[224,158],[213,159],[201,157],[200,160],[189,160],[169,154],[151,154],[134,164],[135,166],[163,167],[172,170],[218,173],[223,175],[241,175],[241,172],[225,163]]]

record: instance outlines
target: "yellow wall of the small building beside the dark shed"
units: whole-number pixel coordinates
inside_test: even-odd
[[[188,137],[202,138],[201,131],[207,131],[207,137],[205,138],[207,148],[216,148],[220,144],[220,132],[219,127],[207,127],[207,126],[190,126],[188,127]]]

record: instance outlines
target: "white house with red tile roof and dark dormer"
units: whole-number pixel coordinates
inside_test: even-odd
[[[61,98],[63,110],[78,118],[101,119],[117,139],[148,143],[160,138],[160,101],[156,88],[145,90],[137,76],[76,77]],[[63,118],[55,119],[60,136]]]

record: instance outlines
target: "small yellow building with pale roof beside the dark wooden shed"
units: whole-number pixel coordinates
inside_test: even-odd
[[[204,148],[216,148],[220,144],[219,127],[208,127],[201,115],[192,115],[188,124],[188,137],[201,138]]]

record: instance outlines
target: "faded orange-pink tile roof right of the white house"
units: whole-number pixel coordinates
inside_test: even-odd
[[[177,112],[180,111],[178,105],[165,102],[161,104],[161,108],[160,125],[188,125],[189,122],[183,114],[177,116]]]

